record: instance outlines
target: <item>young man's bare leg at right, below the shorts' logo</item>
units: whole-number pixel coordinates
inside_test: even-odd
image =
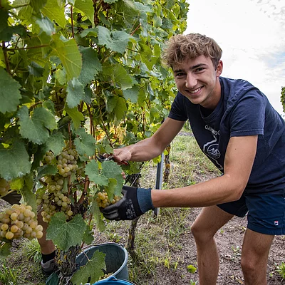
[[[266,285],[266,266],[273,235],[247,229],[242,245],[242,271],[245,285]]]

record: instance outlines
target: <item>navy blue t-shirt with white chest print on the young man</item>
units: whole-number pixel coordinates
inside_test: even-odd
[[[285,193],[285,123],[261,91],[241,79],[220,77],[221,99],[212,113],[177,93],[169,118],[190,121],[202,152],[224,172],[229,138],[258,135],[247,193]]]

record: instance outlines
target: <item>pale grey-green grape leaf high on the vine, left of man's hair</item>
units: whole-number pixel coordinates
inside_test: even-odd
[[[111,51],[117,51],[118,53],[124,53],[128,46],[128,42],[133,36],[125,31],[110,31],[103,26],[97,26],[98,28],[98,43],[102,46],[110,48]]]

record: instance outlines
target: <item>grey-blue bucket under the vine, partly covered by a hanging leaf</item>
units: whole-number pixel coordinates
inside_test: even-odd
[[[77,268],[80,268],[81,266],[85,265],[87,262],[86,255],[90,259],[96,250],[106,254],[105,255],[106,272],[113,273],[108,277],[108,279],[110,277],[116,277],[118,279],[125,279],[125,280],[129,279],[129,272],[127,266],[128,252],[125,249],[125,247],[115,242],[97,244],[95,246],[89,247],[88,249],[84,250],[84,253],[82,252],[81,254],[78,255],[78,257],[76,257]]]

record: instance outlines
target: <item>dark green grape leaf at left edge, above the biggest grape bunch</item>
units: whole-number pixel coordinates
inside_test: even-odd
[[[0,176],[11,180],[26,175],[31,170],[28,152],[21,140],[5,148],[0,144]]]

